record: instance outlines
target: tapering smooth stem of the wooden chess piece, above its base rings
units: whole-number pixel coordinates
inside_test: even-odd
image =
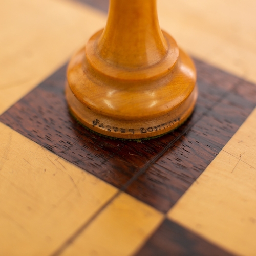
[[[161,61],[168,46],[159,27],[156,0],[112,0],[98,51],[111,65],[129,69]]]

